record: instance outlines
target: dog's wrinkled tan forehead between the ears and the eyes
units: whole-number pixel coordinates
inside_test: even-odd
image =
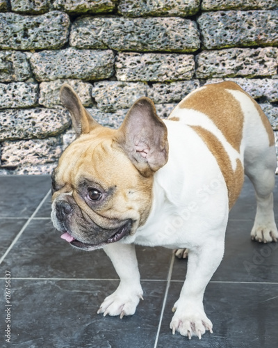
[[[81,190],[83,187],[101,187],[107,191],[115,184],[132,186],[132,180],[136,180],[138,175],[112,136],[106,134],[101,139],[88,134],[63,152],[52,180],[54,191]]]

